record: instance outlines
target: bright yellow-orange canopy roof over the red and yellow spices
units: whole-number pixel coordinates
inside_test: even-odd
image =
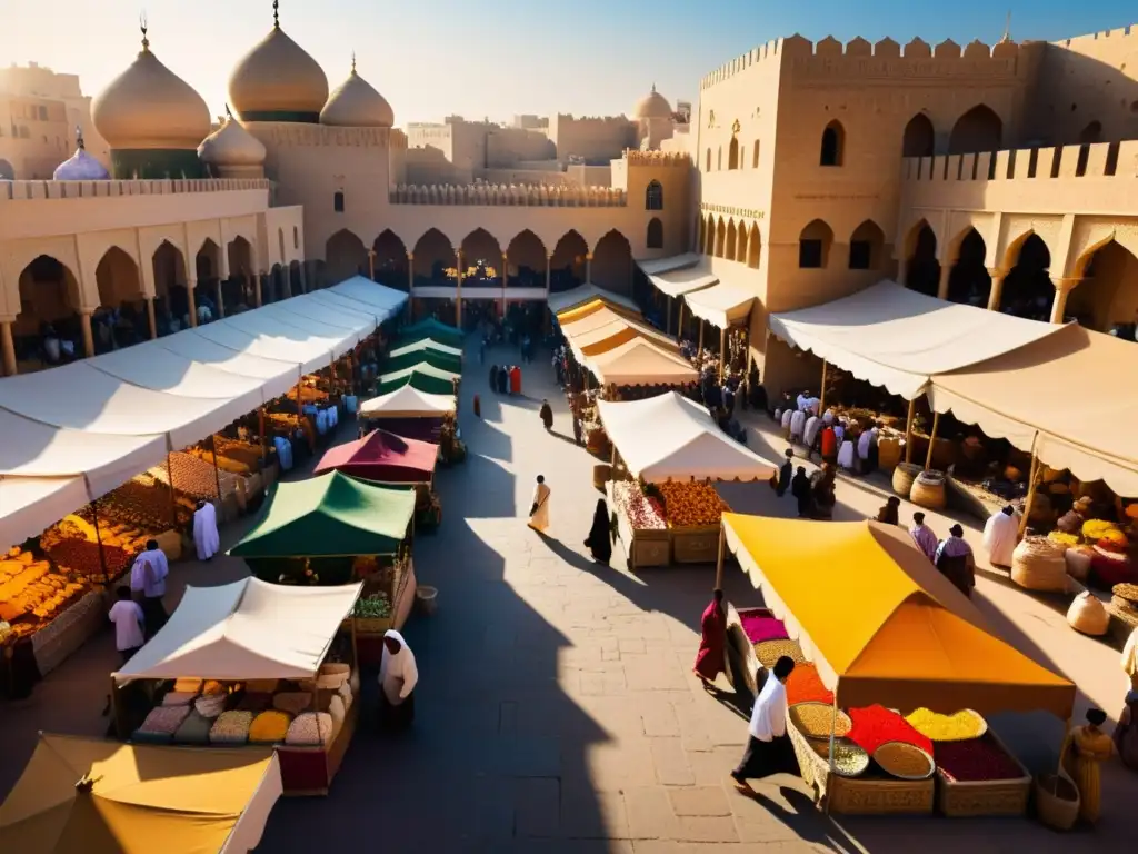
[[[904,528],[724,514],[723,532],[839,705],[1071,716],[1074,685],[991,634]]]

